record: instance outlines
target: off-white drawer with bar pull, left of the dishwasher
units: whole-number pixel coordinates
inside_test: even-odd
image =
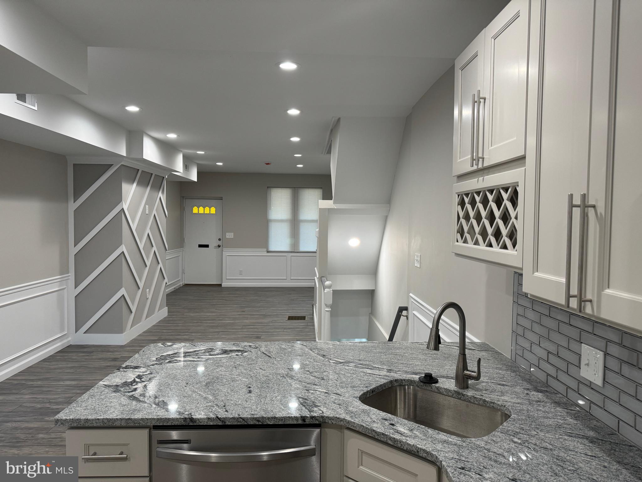
[[[66,438],[67,455],[79,459],[80,477],[110,477],[109,481],[114,482],[116,479],[112,477],[150,475],[148,429],[68,429]],[[101,459],[98,456],[120,457]]]

